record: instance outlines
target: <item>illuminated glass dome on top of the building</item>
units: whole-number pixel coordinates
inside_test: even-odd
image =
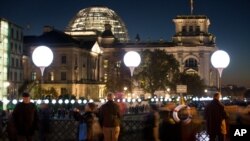
[[[128,41],[128,32],[122,19],[111,9],[94,6],[80,10],[69,22],[66,31],[98,30],[103,32],[105,24],[110,24],[114,36],[120,42]]]

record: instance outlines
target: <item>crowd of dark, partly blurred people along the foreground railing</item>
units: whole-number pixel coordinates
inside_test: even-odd
[[[19,102],[13,111],[5,114],[8,117],[7,133],[9,141],[32,141],[35,133],[38,133],[40,141],[47,141],[52,118],[67,118],[77,121],[77,141],[118,141],[123,114],[128,113],[145,114],[143,122],[145,141],[195,140],[195,134],[193,134],[195,131],[189,135],[180,136],[180,134],[183,134],[182,128],[188,127],[189,124],[182,121],[189,117],[184,116],[183,118],[179,115],[180,121],[176,121],[173,113],[176,112],[177,104],[173,102],[164,105],[140,103],[124,106],[114,101],[113,93],[108,93],[107,102],[102,105],[92,102],[78,107],[58,107],[55,109],[45,103],[37,107],[30,102],[28,93],[23,93],[22,98],[23,101]],[[210,141],[214,141],[216,137],[219,141],[225,141],[226,134],[228,134],[227,127],[225,127],[227,126],[228,115],[219,98],[220,94],[215,93],[213,100],[203,103],[202,106]],[[192,107],[195,104],[192,103],[189,106]],[[1,114],[4,115],[3,112]],[[222,127],[224,130],[222,130]]]

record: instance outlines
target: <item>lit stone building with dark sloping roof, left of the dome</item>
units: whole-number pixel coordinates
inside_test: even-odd
[[[101,53],[97,41],[79,41],[53,27],[45,26],[40,36],[26,36],[27,68],[25,78],[29,82],[42,82],[44,89],[52,87],[58,94],[74,94],[77,98],[99,98],[103,96],[104,83],[101,81]],[[40,46],[48,46],[54,59],[45,68],[43,77],[38,67],[33,65],[31,54]],[[43,81],[41,81],[43,80]]]

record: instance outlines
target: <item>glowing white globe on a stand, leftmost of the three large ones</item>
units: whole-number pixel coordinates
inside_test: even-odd
[[[42,84],[44,69],[52,63],[53,52],[47,46],[38,46],[32,53],[32,61],[41,70],[41,84]]]

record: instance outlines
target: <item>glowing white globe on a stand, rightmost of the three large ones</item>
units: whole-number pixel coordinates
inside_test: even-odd
[[[222,71],[224,68],[226,68],[229,65],[230,57],[227,54],[227,52],[223,50],[217,50],[215,51],[211,56],[211,63],[214,68],[216,68],[219,72],[219,90],[221,93],[221,76]]]

